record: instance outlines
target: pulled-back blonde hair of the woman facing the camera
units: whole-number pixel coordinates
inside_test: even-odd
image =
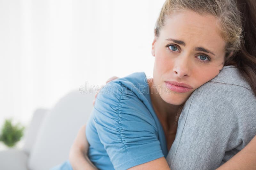
[[[227,57],[238,52],[243,44],[241,14],[234,0],[166,0],[156,22],[155,35],[159,36],[166,17],[180,11],[193,11],[199,15],[217,18],[220,35],[226,42]]]

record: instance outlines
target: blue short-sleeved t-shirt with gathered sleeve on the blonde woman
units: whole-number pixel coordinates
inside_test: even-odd
[[[167,156],[144,72],[110,81],[100,90],[86,138],[88,157],[99,169],[128,169]]]

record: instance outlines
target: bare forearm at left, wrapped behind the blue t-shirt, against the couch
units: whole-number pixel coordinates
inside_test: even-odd
[[[85,137],[85,125],[78,131],[76,139],[71,146],[69,152],[69,161],[74,170],[96,170],[97,168],[92,164],[87,157],[89,144]]]

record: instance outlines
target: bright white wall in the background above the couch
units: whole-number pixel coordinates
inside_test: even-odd
[[[0,125],[86,82],[144,71],[164,0],[0,0]]]

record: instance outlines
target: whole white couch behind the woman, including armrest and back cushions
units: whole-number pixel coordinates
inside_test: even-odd
[[[78,130],[92,111],[92,91],[72,91],[51,110],[37,109],[23,148],[0,152],[0,170],[46,170],[67,160]]]

